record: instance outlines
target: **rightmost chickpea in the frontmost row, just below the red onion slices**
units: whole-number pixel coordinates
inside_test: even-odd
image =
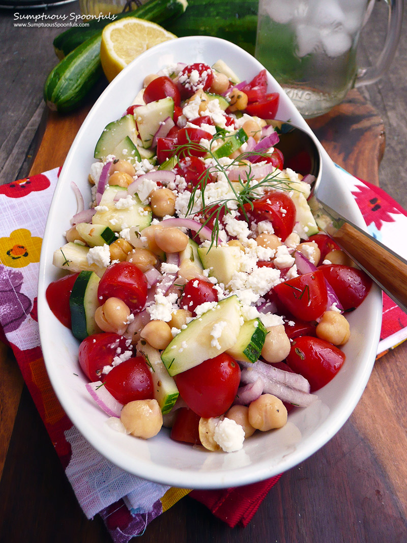
[[[287,408],[272,394],[262,394],[249,406],[249,422],[262,432],[281,428],[287,422]]]

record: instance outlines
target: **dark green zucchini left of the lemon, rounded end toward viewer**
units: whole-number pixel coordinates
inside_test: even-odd
[[[103,74],[101,35],[93,36],[62,59],[48,75],[44,100],[53,111],[72,111]]]

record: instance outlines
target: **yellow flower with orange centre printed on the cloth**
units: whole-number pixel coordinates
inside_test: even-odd
[[[24,268],[40,262],[42,238],[31,237],[26,228],[18,228],[10,237],[0,238],[0,262],[9,268]]]

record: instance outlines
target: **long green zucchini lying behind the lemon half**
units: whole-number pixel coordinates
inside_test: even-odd
[[[187,5],[187,0],[149,0],[136,10],[116,15],[115,21],[122,17],[137,17],[157,24],[168,23],[182,15]],[[54,39],[53,45],[56,55],[62,59],[89,38],[101,35],[104,27],[111,22],[110,19],[100,19],[99,21],[90,21],[87,27],[68,28]]]

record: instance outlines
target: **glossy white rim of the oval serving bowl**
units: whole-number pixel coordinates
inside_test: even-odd
[[[177,44],[176,46],[175,43]],[[107,87],[107,89],[101,94],[97,102],[93,105],[91,111],[88,113],[85,121],[82,123],[82,126],[74,139],[71,149],[69,150],[65,163],[61,169],[60,178],[55,188],[54,197],[49,211],[46,232],[44,233],[43,237],[39,273],[38,312],[40,339],[46,369],[56,396],[58,397],[63,409],[65,409],[65,412],[67,413],[69,419],[71,419],[73,424],[78,428],[79,432],[84,435],[85,439],[100,454],[110,460],[110,462],[112,462],[113,464],[119,466],[119,468],[122,468],[129,473],[132,473],[133,475],[139,477],[150,479],[151,481],[155,481],[158,483],[170,484],[185,488],[226,488],[260,481],[271,476],[278,475],[278,473],[294,467],[298,463],[311,456],[311,454],[319,450],[323,445],[325,445],[327,441],[331,439],[335,435],[335,433],[338,432],[340,428],[345,424],[346,420],[351,415],[354,407],[357,405],[361,394],[363,393],[363,390],[367,384],[374,364],[374,359],[376,357],[377,343],[379,341],[381,324],[381,293],[378,288],[373,286],[371,293],[366,299],[366,301],[369,300],[369,314],[372,320],[372,328],[370,330],[370,343],[368,345],[365,345],[363,348],[366,362],[363,368],[360,368],[360,371],[358,373],[358,385],[356,387],[356,390],[353,383],[352,387],[349,387],[349,390],[345,391],[344,397],[342,398],[342,403],[345,402],[345,404],[344,406],[342,406],[343,408],[341,409],[341,411],[339,413],[336,413],[335,419],[330,420],[328,416],[328,419],[325,422],[321,423],[316,432],[311,433],[309,437],[302,440],[301,450],[295,450],[286,458],[282,458],[277,465],[267,462],[259,462],[258,464],[252,463],[249,467],[240,466],[237,469],[234,468],[233,463],[231,463],[231,466],[226,466],[225,469],[212,470],[208,472],[205,470],[201,471],[191,469],[188,468],[187,465],[183,466],[180,469],[162,466],[158,464],[151,464],[151,462],[144,462],[143,460],[139,459],[137,460],[137,462],[135,462],[135,459],[129,458],[128,453],[120,450],[120,446],[118,444],[123,443],[123,436],[121,434],[117,436],[117,443],[112,444],[109,442],[109,440],[106,442],[106,440],[101,439],[97,425],[92,424],[92,421],[88,421],[86,418],[81,418],[80,416],[78,416],[77,408],[72,401],[72,397],[68,395],[69,388],[61,386],[59,368],[58,365],[55,364],[55,349],[52,348],[52,344],[50,343],[48,337],[47,318],[49,318],[49,308],[47,308],[44,294],[48,285],[47,277],[49,275],[49,267],[52,266],[52,262],[49,262],[50,260],[52,261],[50,255],[52,255],[53,251],[55,250],[55,245],[54,247],[52,247],[52,236],[50,233],[50,230],[52,229],[52,224],[54,222],[53,219],[56,214],[58,214],[57,206],[60,203],[62,193],[66,190],[66,185],[69,182],[69,168],[75,160],[75,154],[77,153],[77,148],[81,141],[81,138],[84,137],[91,123],[94,122],[94,119],[97,117],[98,110],[104,104],[105,100],[110,96],[110,94],[112,93],[112,89],[119,89],[120,85],[122,85],[124,81],[131,79],[131,74],[133,73],[133,71],[136,71],[137,66],[139,64],[142,64],[142,62],[151,61],[152,59],[158,58],[160,55],[165,56],[168,50],[171,50],[171,48],[176,49],[176,47],[179,47],[180,49],[187,49],[188,45],[190,47],[194,46],[196,49],[199,49],[202,52],[205,50],[205,47],[213,47],[217,49],[224,47],[228,50],[228,52],[230,52],[230,54],[236,53],[239,59],[241,58],[244,59],[246,62],[250,62],[254,67],[258,68],[258,70],[263,68],[263,66],[260,65],[260,63],[256,59],[254,59],[249,53],[231,42],[212,36],[186,36],[177,38],[176,40],[170,40],[169,42],[161,43],[148,49],[145,53],[143,53],[137,59],[131,62],[131,64],[126,67],[122,72],[120,72],[119,75]],[[222,58],[221,54],[219,56],[220,58]],[[152,61],[154,64],[154,60]],[[157,68],[157,66],[154,66],[154,68]],[[291,104],[288,97],[285,98],[285,94],[283,94],[284,91],[269,73],[268,77],[269,83],[271,79],[273,81],[273,86],[275,87],[275,89],[282,93],[282,96],[284,97],[284,104],[288,100],[287,108],[289,111],[291,111],[292,118],[294,118],[295,120],[295,124],[311,132],[307,123],[295,110],[294,105]],[[136,93],[137,89],[134,92],[134,96],[136,95]],[[334,173],[334,171],[336,167],[333,165],[332,161],[329,159],[322,146],[320,146],[320,148],[322,153],[322,161],[328,165],[327,172],[329,175],[335,178],[336,174]],[[91,157],[91,159],[93,161],[93,157]],[[357,207],[357,204],[355,204],[354,199],[350,193],[345,194],[345,200],[346,205],[349,207],[349,210],[353,215],[354,222],[362,226],[362,228],[366,228],[359,208]],[[66,330],[67,332],[69,332],[68,329]],[[362,346],[360,346],[360,349],[362,349]],[[105,419],[107,415],[105,415],[104,413],[101,414]],[[97,416],[95,414],[95,417],[97,420],[100,420],[100,416]],[[129,438],[128,436],[125,436],[125,438],[132,440],[136,439],[132,437]],[[256,439],[256,441],[257,440],[258,439]],[[185,445],[182,444],[181,446],[185,447]],[[191,452],[192,455],[195,454],[195,452]],[[207,454],[212,455],[215,453],[210,452]],[[233,455],[237,453],[224,454]]]

